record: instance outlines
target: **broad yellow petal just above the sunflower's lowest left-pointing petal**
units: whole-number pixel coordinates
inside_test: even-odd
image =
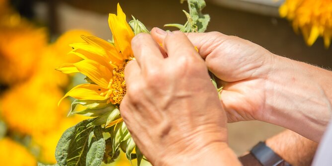
[[[73,64],[83,75],[101,87],[107,88],[113,78],[113,73],[103,65],[92,61],[83,60]]]

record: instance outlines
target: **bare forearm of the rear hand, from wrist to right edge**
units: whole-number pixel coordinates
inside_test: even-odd
[[[331,118],[331,86],[332,72],[276,56],[265,83],[264,121],[319,142]]]

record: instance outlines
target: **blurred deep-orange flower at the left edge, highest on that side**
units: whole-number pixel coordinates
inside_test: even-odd
[[[18,21],[17,25],[17,22],[14,25],[9,23],[0,25],[0,83],[2,84],[12,85],[30,78],[35,73],[36,63],[47,44],[44,29],[37,29],[29,23]]]

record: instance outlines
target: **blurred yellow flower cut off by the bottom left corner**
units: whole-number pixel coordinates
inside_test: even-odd
[[[36,159],[26,148],[9,138],[0,139],[0,166],[36,166]]]

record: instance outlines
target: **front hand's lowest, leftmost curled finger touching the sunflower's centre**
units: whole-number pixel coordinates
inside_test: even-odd
[[[136,82],[141,78],[141,68],[136,60],[128,62],[124,75],[127,88],[131,85],[131,83]]]

